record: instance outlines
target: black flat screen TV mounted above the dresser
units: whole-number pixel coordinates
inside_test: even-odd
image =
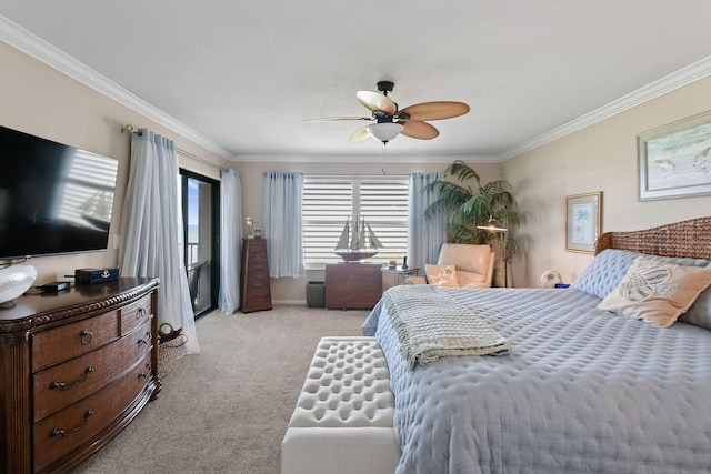
[[[118,168],[0,127],[0,260],[106,250]]]

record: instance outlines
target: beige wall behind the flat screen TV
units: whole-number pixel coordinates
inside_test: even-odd
[[[129,137],[121,133],[122,125],[149,128],[174,140],[178,148],[216,163],[213,167],[179,154],[182,168],[219,178],[219,167],[231,164],[3,42],[0,42],[0,125],[119,160],[109,250],[32,259],[30,263],[39,273],[37,284],[64,280],[64,275],[73,274],[78,268],[117,265],[118,250],[112,241],[120,234],[130,154]]]

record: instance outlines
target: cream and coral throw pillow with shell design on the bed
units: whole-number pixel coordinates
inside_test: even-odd
[[[639,256],[620,284],[598,307],[667,327],[710,284],[710,269],[675,265]]]

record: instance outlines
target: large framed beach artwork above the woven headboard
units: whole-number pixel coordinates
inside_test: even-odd
[[[711,194],[711,111],[638,137],[639,200]]]

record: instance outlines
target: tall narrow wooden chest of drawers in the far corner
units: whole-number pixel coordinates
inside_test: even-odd
[[[242,313],[271,310],[267,240],[244,239],[242,243]]]

